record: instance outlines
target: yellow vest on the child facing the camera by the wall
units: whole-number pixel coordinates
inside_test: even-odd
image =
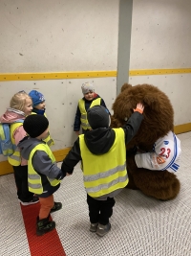
[[[100,105],[100,104],[101,104],[101,98],[97,98],[96,100],[94,100],[92,102],[90,107],[93,107],[95,105]],[[82,100],[82,99],[79,100],[78,106],[79,106],[79,110],[80,110],[80,113],[81,113],[81,118],[80,118],[81,128],[83,128],[83,129],[90,129],[91,127],[88,124],[87,112],[86,112],[86,108],[85,108],[85,101]]]

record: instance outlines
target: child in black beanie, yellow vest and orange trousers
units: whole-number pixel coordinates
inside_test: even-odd
[[[60,210],[62,203],[54,201],[53,193],[60,187],[60,180],[66,173],[57,167],[53,152],[44,142],[49,132],[48,119],[44,115],[30,115],[23,127],[29,136],[20,141],[18,147],[21,155],[28,159],[29,190],[40,200],[36,235],[41,236],[55,227],[55,222],[50,221],[50,213]]]

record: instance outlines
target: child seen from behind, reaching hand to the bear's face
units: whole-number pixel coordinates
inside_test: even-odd
[[[124,128],[109,128],[109,113],[102,105],[88,109],[92,129],[79,135],[61,169],[72,174],[81,160],[89,207],[90,231],[100,237],[111,229],[115,196],[128,184],[126,147],[138,132],[144,106],[137,105]]]

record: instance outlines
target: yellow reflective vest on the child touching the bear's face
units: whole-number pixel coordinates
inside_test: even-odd
[[[126,170],[125,135],[122,128],[114,128],[115,142],[110,151],[93,154],[88,150],[84,134],[79,135],[79,146],[83,161],[84,186],[93,198],[107,195],[128,184]]]

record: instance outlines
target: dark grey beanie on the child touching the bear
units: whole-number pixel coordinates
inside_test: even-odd
[[[88,123],[91,128],[109,128],[109,111],[102,105],[90,107],[87,111]]]

